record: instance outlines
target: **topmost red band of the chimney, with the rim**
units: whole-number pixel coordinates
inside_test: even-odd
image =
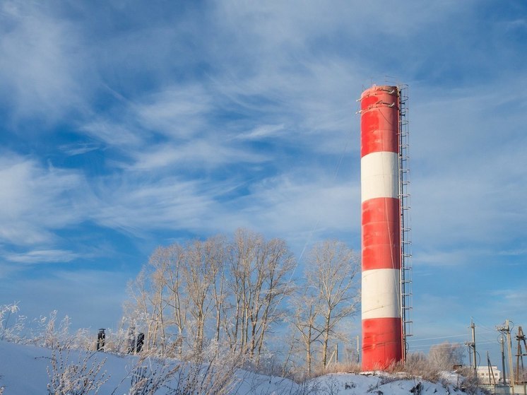
[[[375,87],[362,93],[360,102],[360,155],[389,151],[397,153],[398,143],[398,97],[386,90],[395,87]],[[393,105],[393,107],[390,107]]]

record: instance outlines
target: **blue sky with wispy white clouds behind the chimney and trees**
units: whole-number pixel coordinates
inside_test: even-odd
[[[525,2],[2,1],[0,53],[0,302],[115,328],[160,244],[360,250],[355,100],[400,81],[412,347],[527,325]]]

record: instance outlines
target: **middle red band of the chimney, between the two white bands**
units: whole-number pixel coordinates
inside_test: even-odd
[[[375,198],[362,203],[362,271],[401,269],[399,201]]]

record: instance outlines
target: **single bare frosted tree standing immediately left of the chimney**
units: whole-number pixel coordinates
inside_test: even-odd
[[[360,260],[343,242],[316,244],[307,258],[307,285],[314,288],[321,304],[322,365],[326,367],[328,342],[336,326],[357,309]]]

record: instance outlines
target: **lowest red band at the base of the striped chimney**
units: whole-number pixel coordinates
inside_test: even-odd
[[[362,370],[386,369],[401,358],[401,318],[362,320]]]

